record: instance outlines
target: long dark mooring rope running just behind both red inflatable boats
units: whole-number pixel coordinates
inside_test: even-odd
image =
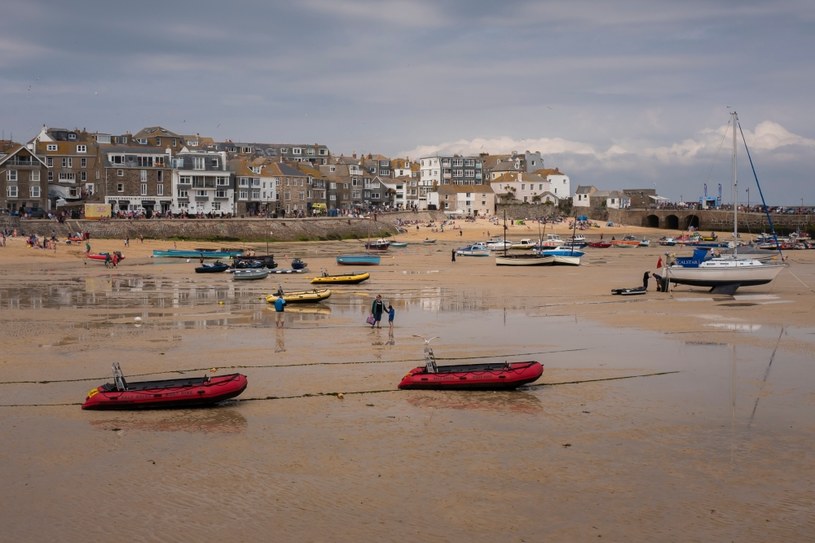
[[[484,355],[484,356],[461,356],[461,357],[440,357],[437,356],[436,360],[474,360],[474,359],[483,359],[483,358],[504,358],[504,357],[516,357],[516,356],[532,356],[532,355],[540,355],[540,354],[555,354],[555,353],[569,353],[569,352],[576,352],[576,351],[585,351],[585,348],[579,349],[559,349],[555,351],[531,351],[526,353],[499,353],[499,354],[491,354],[491,355]],[[201,372],[201,371],[212,371],[213,369],[224,369],[224,370],[232,370],[232,369],[278,369],[278,368],[301,368],[301,367],[312,367],[312,366],[350,366],[350,365],[357,365],[357,364],[396,364],[396,363],[422,363],[424,359],[416,359],[416,358],[404,358],[404,359],[397,359],[397,360],[349,360],[346,362],[300,362],[300,363],[292,363],[292,364],[234,364],[231,366],[217,366],[217,368],[213,368],[212,366],[208,366],[205,368],[187,368],[187,369],[177,369],[177,370],[165,370],[165,371],[153,371],[153,372],[146,372],[146,373],[129,373],[127,375],[128,379],[133,377],[152,377],[154,375],[164,375],[167,373],[178,373],[178,374],[185,374],[185,373],[192,373],[192,372]],[[0,381],[0,385],[50,385],[54,383],[80,383],[84,381],[102,381],[104,379],[110,379],[110,376],[105,377],[77,377],[74,379],[51,379],[51,380],[28,380],[28,381]]]

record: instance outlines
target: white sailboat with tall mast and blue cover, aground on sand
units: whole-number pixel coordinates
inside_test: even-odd
[[[733,239],[738,240],[738,178],[736,173],[736,128],[739,117],[734,111],[733,122]],[[669,256],[669,255],[666,255]],[[710,287],[711,292],[733,294],[739,287],[764,285],[775,279],[784,269],[784,263],[758,260],[748,255],[739,255],[738,246],[732,254],[718,256],[682,265],[666,260],[666,266],[658,270],[663,282],[678,285]]]

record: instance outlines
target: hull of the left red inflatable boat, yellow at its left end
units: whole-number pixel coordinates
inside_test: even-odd
[[[246,386],[246,376],[240,373],[129,383],[122,391],[107,383],[88,393],[82,409],[205,407],[238,396]]]

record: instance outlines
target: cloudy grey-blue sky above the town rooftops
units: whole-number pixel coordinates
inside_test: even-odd
[[[573,190],[815,206],[813,51],[811,0],[5,0],[0,139],[539,151]]]

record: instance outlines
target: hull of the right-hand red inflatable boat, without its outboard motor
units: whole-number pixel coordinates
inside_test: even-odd
[[[510,390],[537,380],[543,365],[537,361],[439,366],[428,373],[414,368],[402,378],[400,389]]]

